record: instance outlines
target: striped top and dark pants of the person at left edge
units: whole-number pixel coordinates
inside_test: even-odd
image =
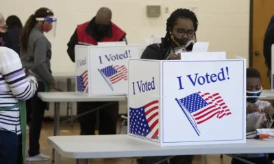
[[[0,46],[0,163],[25,161],[26,109],[23,100],[34,96],[36,78],[27,76],[18,54]]]

